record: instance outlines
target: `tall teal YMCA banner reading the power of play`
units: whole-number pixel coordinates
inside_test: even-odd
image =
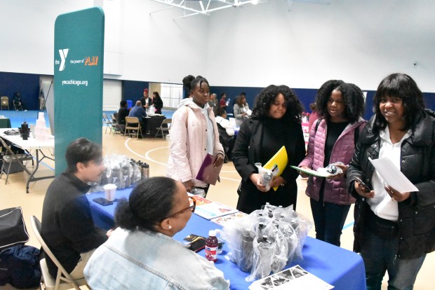
[[[102,144],[105,15],[94,7],[59,15],[55,22],[55,174],[65,171],[65,151],[85,137]]]

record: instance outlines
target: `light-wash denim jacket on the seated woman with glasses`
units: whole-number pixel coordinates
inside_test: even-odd
[[[117,228],[84,270],[91,289],[229,289],[212,262],[161,233]]]

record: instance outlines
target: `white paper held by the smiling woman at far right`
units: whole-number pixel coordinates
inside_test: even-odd
[[[418,191],[418,188],[409,181],[408,178],[396,167],[388,158],[373,160],[368,158],[373,164],[387,186],[391,186],[399,193]]]

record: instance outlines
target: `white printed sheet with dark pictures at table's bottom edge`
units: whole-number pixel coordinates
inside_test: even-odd
[[[319,277],[312,275],[302,269],[300,265],[295,265],[274,275],[267,276],[250,284],[250,290],[268,289],[292,289],[292,290],[328,290],[334,286],[324,282]]]

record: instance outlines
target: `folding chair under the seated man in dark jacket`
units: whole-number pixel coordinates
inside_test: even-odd
[[[46,259],[43,258],[41,261],[39,261],[42,273],[41,289],[64,290],[74,288],[76,290],[80,290],[79,286],[87,286],[85,278],[76,280],[72,279],[72,277],[69,276],[67,270],[63,268],[58,259],[53,255],[53,252],[48,248],[46,242],[44,242],[44,239],[41,237],[41,221],[39,221],[36,216],[30,216],[30,223],[32,224],[32,230],[36,235],[36,239],[41,244],[42,249],[44,249],[46,255],[50,257],[51,261],[53,261],[56,267],[58,267],[58,275],[54,279],[53,276],[51,276],[48,272]]]

